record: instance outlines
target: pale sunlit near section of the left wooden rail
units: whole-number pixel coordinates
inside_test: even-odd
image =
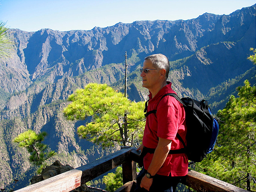
[[[80,186],[81,176],[81,170],[72,169],[15,192],[69,192]]]

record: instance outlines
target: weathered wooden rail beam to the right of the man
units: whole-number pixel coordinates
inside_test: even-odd
[[[198,192],[248,192],[227,182],[190,170],[182,183]]]

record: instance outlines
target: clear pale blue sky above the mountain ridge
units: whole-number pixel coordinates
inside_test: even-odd
[[[230,14],[255,0],[0,0],[0,20],[24,31],[91,30],[118,22]]]

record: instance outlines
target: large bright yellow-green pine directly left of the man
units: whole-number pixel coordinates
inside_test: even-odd
[[[69,96],[64,115],[69,120],[92,121],[78,127],[78,134],[103,147],[132,146],[142,138],[144,102],[131,102],[106,84],[91,83]],[[126,116],[125,116],[126,114]],[[127,118],[127,120],[125,120]]]

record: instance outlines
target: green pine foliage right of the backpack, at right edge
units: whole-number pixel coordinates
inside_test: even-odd
[[[217,147],[199,164],[203,172],[248,191],[256,190],[256,88],[248,80],[238,87],[218,117]],[[202,171],[202,170],[201,170]]]

